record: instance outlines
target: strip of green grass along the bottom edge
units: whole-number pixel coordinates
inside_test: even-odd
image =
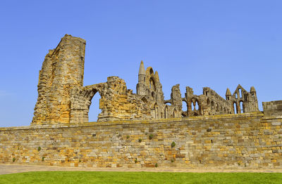
[[[282,173],[44,171],[0,175],[0,183],[282,183]]]

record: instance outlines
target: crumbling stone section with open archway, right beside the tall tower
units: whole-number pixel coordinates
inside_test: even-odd
[[[106,83],[73,88],[71,92],[71,123],[88,122],[88,112],[95,93],[99,93],[98,121],[150,118],[149,103],[128,90],[125,81],[108,77]]]

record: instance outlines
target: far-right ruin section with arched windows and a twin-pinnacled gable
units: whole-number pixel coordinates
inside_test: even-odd
[[[247,92],[240,84],[235,89],[233,95],[231,95],[230,90],[227,88],[226,99],[208,87],[203,88],[202,95],[196,96],[192,88],[187,86],[183,101],[188,106],[188,111],[183,112],[183,117],[259,112],[255,88],[252,86],[250,92]],[[198,109],[196,104],[199,106]]]

